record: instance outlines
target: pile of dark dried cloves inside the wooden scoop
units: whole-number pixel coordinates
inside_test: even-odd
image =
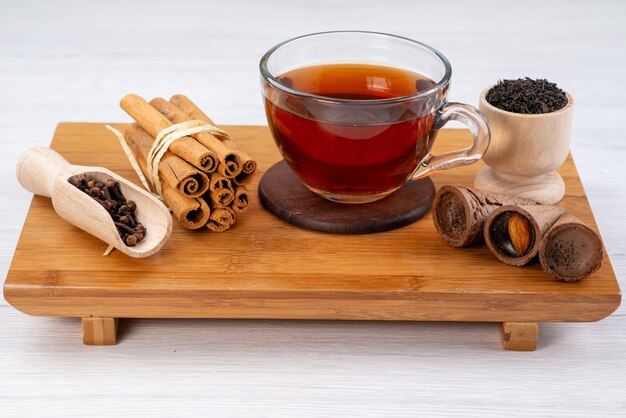
[[[126,245],[133,247],[146,236],[146,227],[137,222],[135,216],[137,205],[124,198],[117,181],[107,179],[102,183],[94,178],[87,178],[86,174],[77,174],[68,181],[102,205],[111,215],[117,232]]]

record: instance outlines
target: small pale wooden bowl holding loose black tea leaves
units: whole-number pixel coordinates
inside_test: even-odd
[[[479,189],[514,195],[543,204],[563,198],[565,184],[555,171],[569,153],[574,99],[566,92],[567,105],[538,115],[507,112],[480,94],[479,108],[489,121],[491,145],[483,155],[489,166],[474,180]]]

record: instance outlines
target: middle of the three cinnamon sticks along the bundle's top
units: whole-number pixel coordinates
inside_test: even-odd
[[[163,98],[157,97],[152,99],[150,104],[172,123],[193,120],[191,116],[179,109],[178,106],[169,103]],[[208,132],[199,132],[191,136],[217,156],[219,161],[217,171],[220,174],[228,178],[233,178],[241,173],[243,168],[241,159],[224,145],[222,141]]]

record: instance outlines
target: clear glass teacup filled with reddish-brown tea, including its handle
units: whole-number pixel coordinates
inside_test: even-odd
[[[313,192],[343,203],[381,199],[409,180],[472,164],[489,146],[477,109],[447,103],[452,70],[437,50],[374,32],[323,32],[276,45],[260,63],[265,111],[280,152]],[[471,146],[431,155],[457,120]]]

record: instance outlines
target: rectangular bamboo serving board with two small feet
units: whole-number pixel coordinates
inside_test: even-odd
[[[125,125],[115,125],[124,129]],[[280,318],[488,321],[502,323],[505,348],[534,349],[537,322],[597,321],[620,304],[608,257],[588,279],[555,281],[535,264],[499,263],[484,245],[447,246],[430,213],[406,227],[334,235],[287,224],[260,205],[260,174],[280,160],[265,126],[225,126],[258,159],[252,207],[225,233],[188,231],[175,222],[165,247],[145,259],[118,251],[56,216],[35,196],[4,286],[31,315],[83,318],[87,344],[115,343],[117,318]],[[443,130],[435,152],[460,148],[469,133]],[[73,164],[138,179],[100,123],[59,124],[52,141]],[[438,173],[443,184],[471,185],[482,163]],[[559,169],[562,205],[597,231],[569,157]]]

